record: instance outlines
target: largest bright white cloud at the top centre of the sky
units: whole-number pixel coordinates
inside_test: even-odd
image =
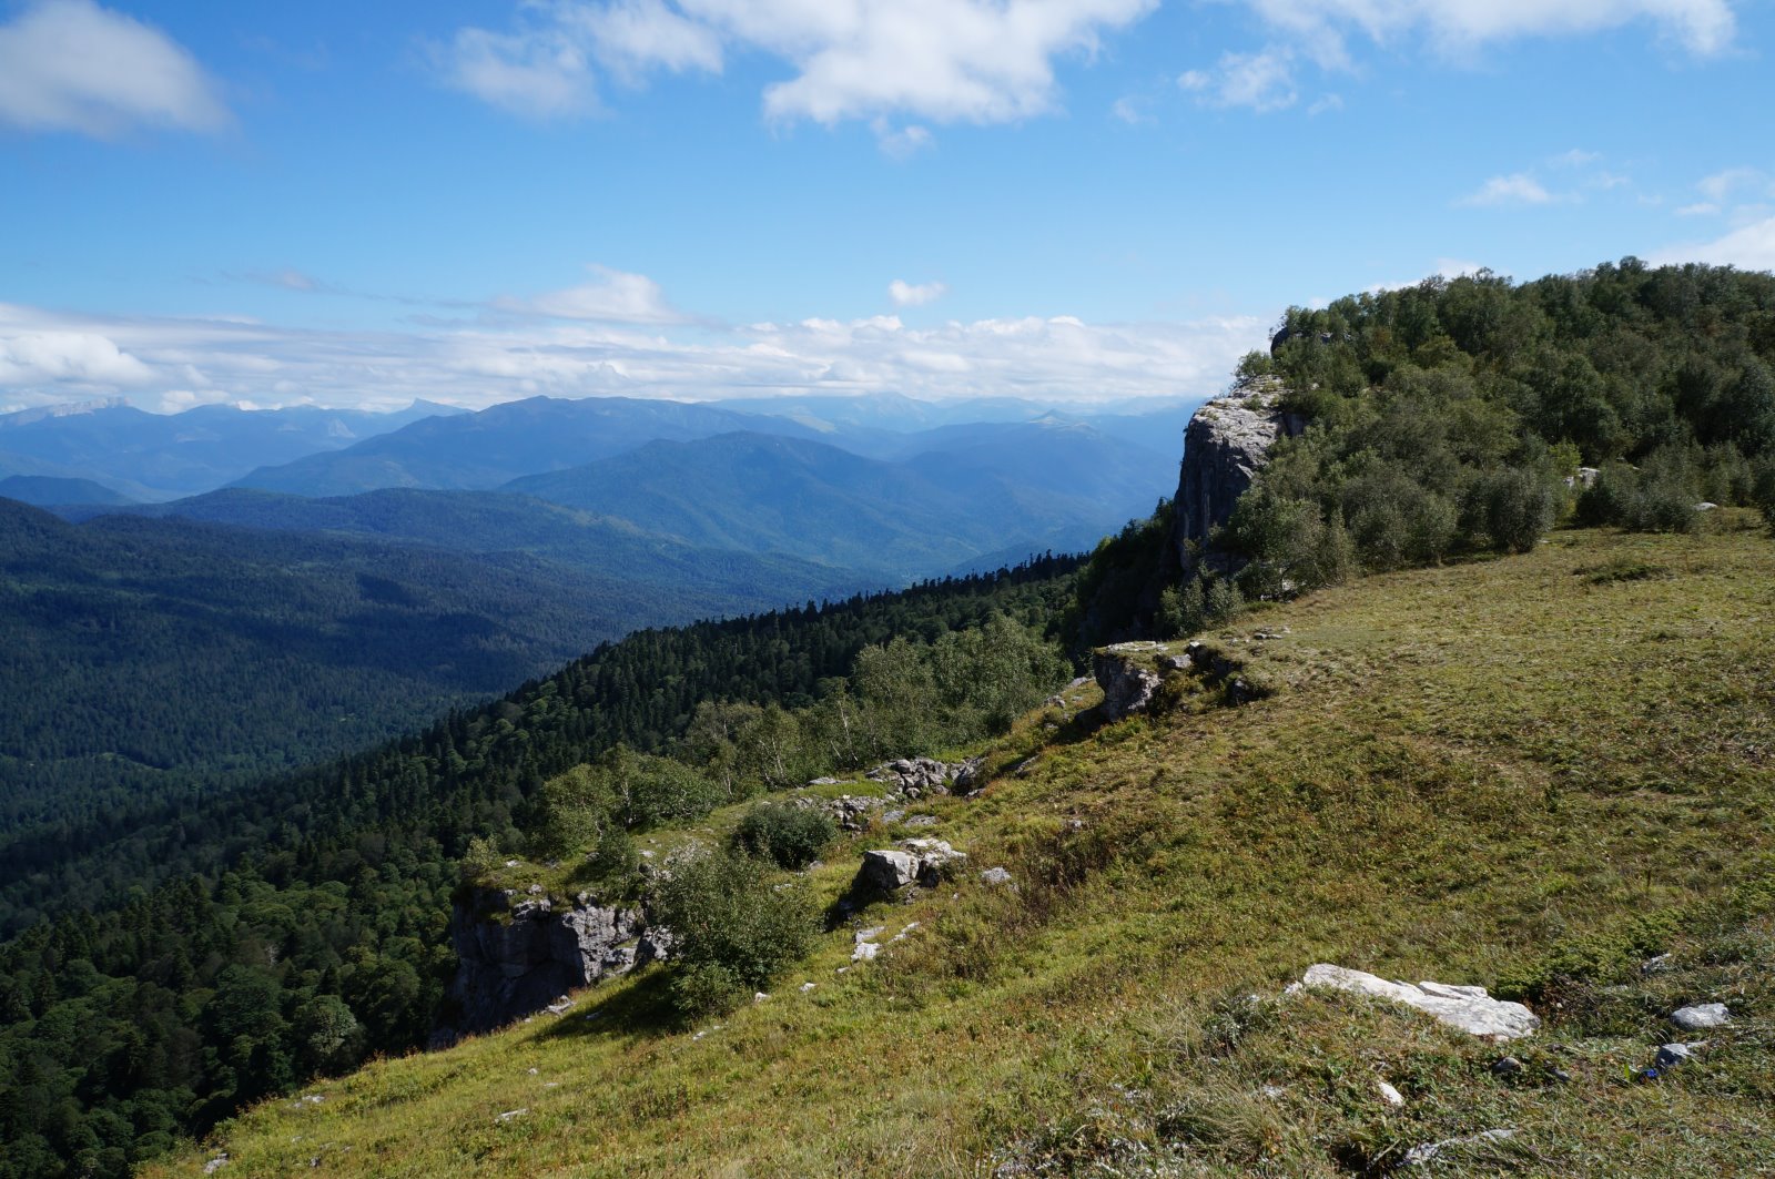
[[[1005,123],[1056,107],[1054,59],[1092,57],[1106,30],[1157,0],[557,0],[509,32],[463,28],[438,50],[446,82],[536,117],[596,108],[595,66],[719,73],[726,51],[776,57],[779,121],[916,117]]]

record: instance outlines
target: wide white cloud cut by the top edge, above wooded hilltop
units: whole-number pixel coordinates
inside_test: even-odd
[[[1651,23],[1695,55],[1724,51],[1736,34],[1729,0],[1244,0],[1266,23],[1317,43],[1324,59],[1345,53],[1358,32],[1376,43],[1424,37],[1464,55],[1519,37],[1562,37]]]

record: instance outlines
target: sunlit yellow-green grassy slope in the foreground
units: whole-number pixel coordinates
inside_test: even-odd
[[[1045,742],[1030,772],[921,808],[1019,891],[969,872],[877,904],[864,923],[921,927],[843,975],[836,929],[701,1039],[648,1028],[651,971],[376,1064],[224,1126],[220,1174],[1335,1175],[1498,1126],[1519,1133],[1440,1174],[1771,1174],[1775,545],[1729,517],[1706,538],[1562,533],[1218,643],[1278,694],[1228,710],[1186,685],[1097,732],[1031,717],[994,753]],[[801,886],[836,897],[888,835]],[[1676,969],[1642,977],[1654,950]],[[1598,978],[1539,998],[1516,1078],[1411,1012],[1271,998],[1315,961],[1498,987],[1553,953]],[[1743,1017],[1628,1083],[1679,1039],[1661,1016],[1708,1000]]]

